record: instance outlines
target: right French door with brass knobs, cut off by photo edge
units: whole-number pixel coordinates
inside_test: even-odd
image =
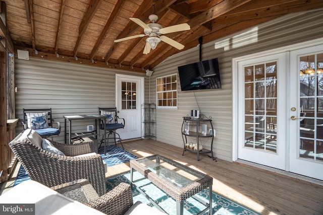
[[[323,45],[290,59],[290,172],[323,180]]]

